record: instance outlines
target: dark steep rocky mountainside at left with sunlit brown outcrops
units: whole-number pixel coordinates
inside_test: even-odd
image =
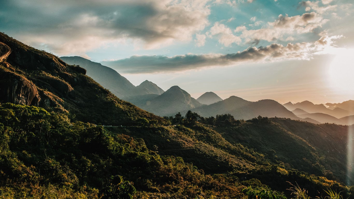
[[[122,101],[85,75],[86,70],[0,33],[0,102],[34,105],[84,122],[133,124],[161,118]],[[90,113],[90,114],[88,114]]]

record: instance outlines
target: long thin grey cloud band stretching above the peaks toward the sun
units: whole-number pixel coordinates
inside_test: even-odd
[[[203,54],[167,56],[132,56],[116,61],[104,61],[103,65],[119,73],[176,72],[205,67],[221,67],[240,63],[276,62],[284,59],[311,59],[314,53],[333,45],[341,36],[322,36],[315,42],[270,44],[265,47],[249,47],[244,51],[230,54]]]

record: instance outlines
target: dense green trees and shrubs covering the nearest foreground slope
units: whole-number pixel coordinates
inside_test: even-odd
[[[326,187],[345,196],[354,191],[326,177],[274,164],[241,144],[228,144],[202,124],[107,127],[113,133],[71,122],[66,113],[10,103],[1,104],[0,122],[3,198],[130,198],[132,186],[136,198],[241,198],[262,187],[289,196],[286,181],[315,194]],[[137,136],[143,134],[145,141]],[[179,151],[185,147],[181,142],[190,145],[189,152]],[[202,157],[207,151],[210,157]],[[207,174],[194,163],[209,165],[204,166]]]

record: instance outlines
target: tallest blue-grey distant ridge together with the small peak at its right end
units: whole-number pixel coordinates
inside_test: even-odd
[[[115,96],[121,99],[129,99],[132,96],[157,94],[164,92],[159,86],[151,81],[145,80],[139,86],[134,86],[124,76],[120,75],[114,69],[103,66],[100,63],[92,62],[79,56],[60,57],[68,64],[79,65],[86,69],[86,75],[101,84],[105,89],[111,91]]]

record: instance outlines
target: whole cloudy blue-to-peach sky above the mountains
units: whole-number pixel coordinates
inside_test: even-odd
[[[354,99],[352,0],[0,0],[0,31],[194,98]]]

